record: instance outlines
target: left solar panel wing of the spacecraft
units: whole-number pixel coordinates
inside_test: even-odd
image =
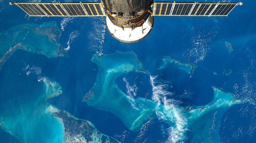
[[[30,16],[105,16],[102,2],[12,3],[18,5]]]

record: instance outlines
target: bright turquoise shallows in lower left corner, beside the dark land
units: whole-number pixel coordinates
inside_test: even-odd
[[[46,78],[37,85],[39,88],[29,85],[20,89],[21,93],[15,95],[19,98],[10,98],[1,104],[1,128],[25,143],[62,142],[64,127],[61,120],[52,115],[54,110],[46,102],[47,98],[61,94],[61,87]],[[40,90],[34,92],[31,88]],[[22,94],[22,90],[30,90],[32,94]]]

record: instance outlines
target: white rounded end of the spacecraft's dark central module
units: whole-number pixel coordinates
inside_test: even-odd
[[[153,28],[154,18],[149,16],[142,26],[136,27],[132,30],[131,27],[118,27],[114,25],[108,17],[106,17],[106,24],[109,33],[119,41],[122,42],[138,42],[145,38]]]

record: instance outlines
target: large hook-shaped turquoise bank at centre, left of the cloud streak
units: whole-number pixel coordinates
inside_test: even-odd
[[[131,71],[145,74],[149,72],[144,70],[142,63],[133,52],[95,54],[92,61],[98,65],[98,78],[83,101],[99,110],[115,114],[130,130],[139,131],[143,122],[154,114],[153,109],[156,104],[147,99],[133,99],[127,96],[118,88],[115,80],[118,76]]]

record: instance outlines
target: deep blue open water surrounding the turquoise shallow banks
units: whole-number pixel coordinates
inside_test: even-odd
[[[60,28],[64,24],[59,39],[63,48],[68,47],[70,40],[70,49],[67,51],[69,57],[48,58],[21,49],[15,51],[0,71],[1,105],[7,99],[23,98],[23,94],[18,93],[24,87],[28,87],[23,90],[24,94],[40,94],[42,85],[37,79],[39,76],[47,77],[59,83],[63,91],[60,96],[49,99],[48,102],[67,110],[77,118],[91,121],[101,133],[121,142],[164,142],[168,138],[166,129],[169,125],[161,119],[147,120],[148,123],[142,130],[133,132],[113,113],[98,110],[82,102],[85,94],[96,82],[99,70],[91,59],[100,51],[103,54],[133,51],[143,64],[144,70],[150,72],[151,76],[157,76],[156,81],[159,84],[168,85],[165,91],[173,93],[168,98],[178,101],[175,106],[208,104],[214,97],[212,86],[223,88],[238,99],[256,100],[255,2],[243,1],[243,5],[236,6],[228,17],[155,16],[151,33],[136,43],[121,43],[114,39],[105,27],[104,18],[75,17],[66,23],[62,22],[62,17],[28,18],[17,6],[0,2],[0,31],[24,23],[56,21]],[[165,26],[162,26],[163,23]],[[70,39],[74,34],[77,37]],[[225,47],[225,41],[232,45],[232,52],[229,53]],[[163,64],[163,56],[191,62],[198,65],[198,68],[193,74],[172,68],[157,70]],[[27,75],[22,70],[27,65],[39,67],[41,74]],[[228,69],[232,73],[226,76]],[[115,82],[127,94],[126,83],[123,81],[125,78],[131,86],[135,84],[138,88],[135,98],[152,100],[150,75],[131,71],[117,77]],[[221,141],[252,142],[256,139],[255,105],[236,104],[223,114],[219,119]],[[2,130],[0,137],[4,139],[3,142],[17,142],[12,135]],[[190,141],[191,138],[188,138],[187,142]]]

